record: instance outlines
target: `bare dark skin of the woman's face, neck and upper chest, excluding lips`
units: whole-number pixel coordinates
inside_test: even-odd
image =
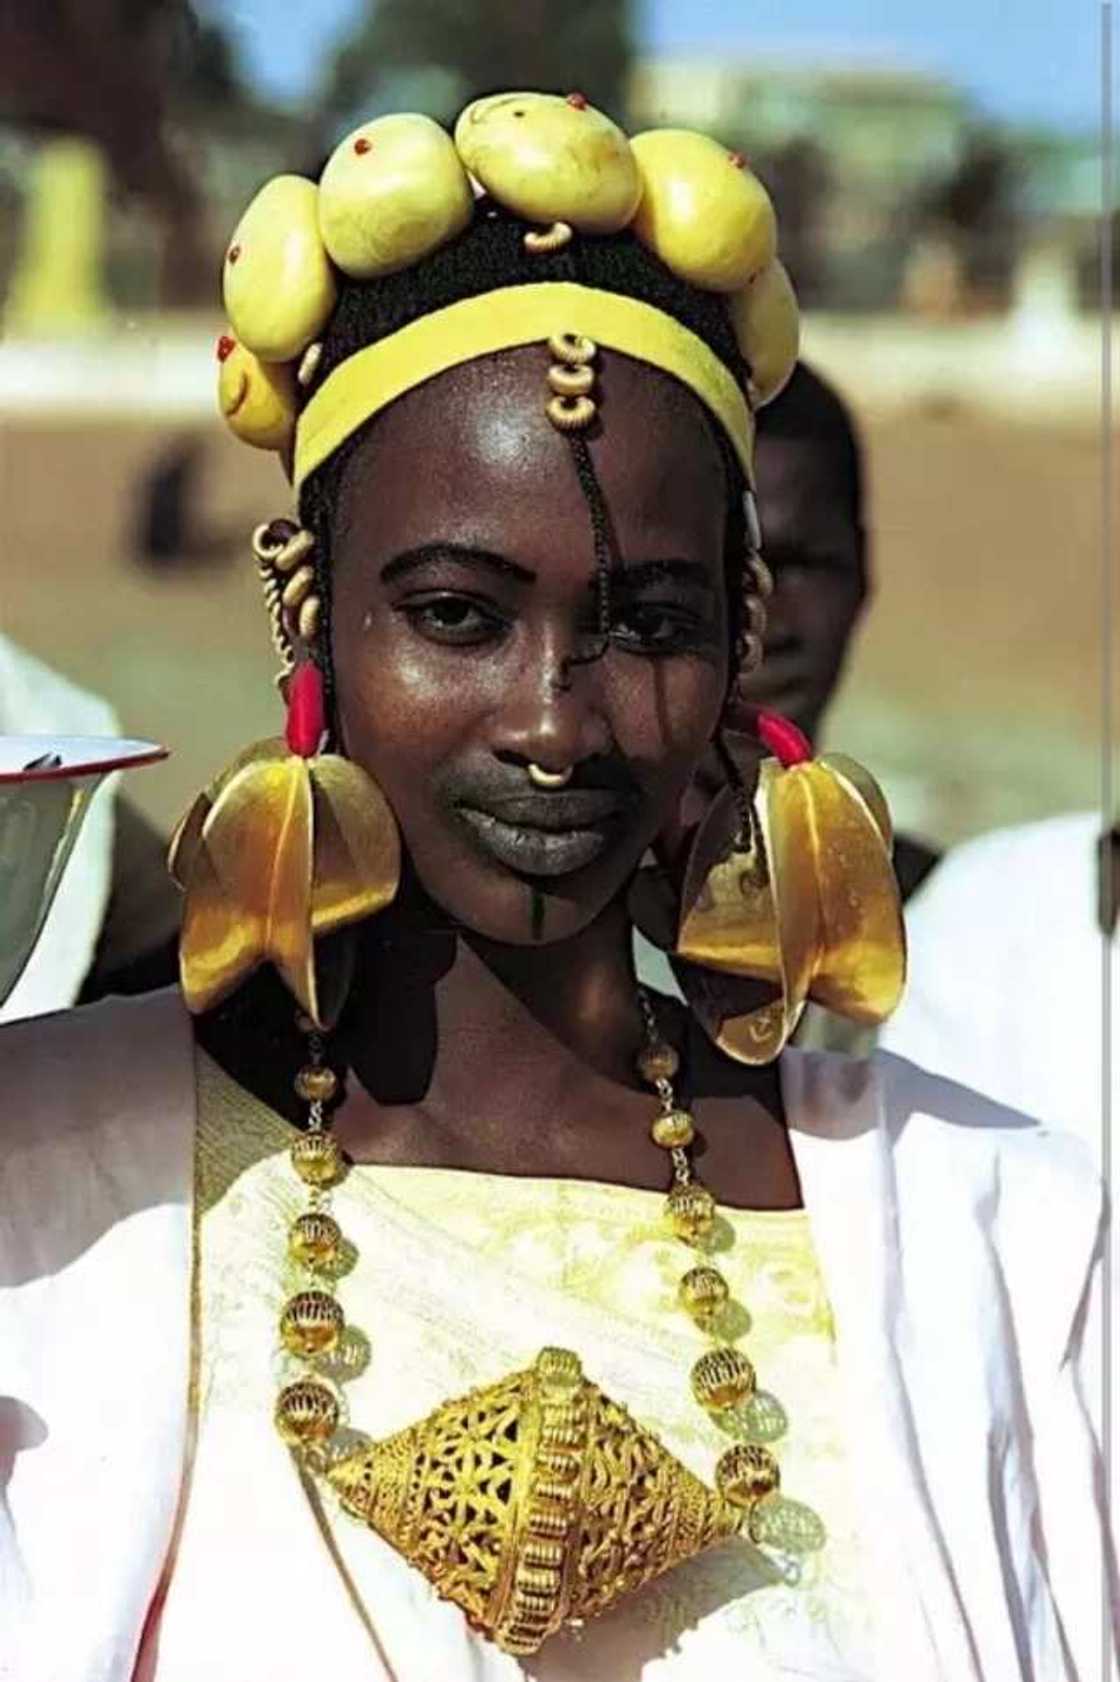
[[[585,664],[592,528],[543,414],[538,348],[410,392],[346,469],[331,550],[340,735],[407,854],[397,905],[362,932],[335,1039],[350,1065],[335,1127],[358,1162],[668,1182],[634,1075],[626,890],[674,833],[720,722],[728,488],[681,387],[604,355],[600,392],[590,447],[621,570],[609,648]],[[530,762],[572,765],[565,794],[614,802],[578,868],[515,868],[462,816],[531,796]],[[799,1206],[775,1071],[723,1058],[668,1002],[663,1031],[684,1055],[720,1201]]]

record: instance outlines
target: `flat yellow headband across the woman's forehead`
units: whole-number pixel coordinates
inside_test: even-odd
[[[505,286],[410,321],[355,352],[323,382],[296,426],[296,491],[338,446],[404,392],[446,368],[555,333],[584,333],[686,385],[715,415],[752,479],[753,419],[730,368],[701,338],[652,304],[570,281]]]

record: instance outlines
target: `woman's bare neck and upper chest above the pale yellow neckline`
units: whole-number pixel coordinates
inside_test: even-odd
[[[299,1125],[293,1078],[306,1048],[294,1018],[262,971],[200,1019],[198,1038]],[[679,1008],[664,1011],[663,1029],[683,1053],[679,1093],[696,1112],[705,1179],[738,1208],[797,1206],[777,1070],[732,1063]],[[656,1103],[634,1071],[642,1034],[621,905],[570,942],[530,949],[390,913],[360,932],[350,999],[328,1036],[328,1060],[345,1071],[335,1130],[357,1162],[663,1189]]]

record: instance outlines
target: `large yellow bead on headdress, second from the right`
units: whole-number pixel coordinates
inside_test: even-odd
[[[774,259],[774,205],[738,153],[683,128],[651,128],[631,150],[642,178],[634,232],[674,274],[735,293]]]

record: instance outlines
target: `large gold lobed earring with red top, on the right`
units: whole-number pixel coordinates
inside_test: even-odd
[[[725,789],[684,870],[676,928],[632,900],[666,945],[708,1034],[742,1063],[772,1061],[809,999],[881,1023],[901,997],[906,940],[891,822],[874,779],[839,754],[812,759],[802,733],[762,711],[770,750],[747,802]]]

